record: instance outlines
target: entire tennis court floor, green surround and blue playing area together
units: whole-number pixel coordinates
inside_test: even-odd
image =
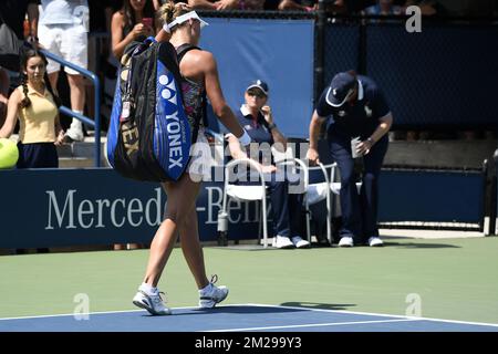
[[[170,316],[131,303],[148,250],[0,257],[0,332],[498,331],[498,238],[386,237],[384,248],[206,247],[230,289],[198,310],[180,249],[159,283]]]

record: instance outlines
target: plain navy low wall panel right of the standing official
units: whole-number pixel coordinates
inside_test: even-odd
[[[483,173],[383,170],[378,220],[481,223]]]

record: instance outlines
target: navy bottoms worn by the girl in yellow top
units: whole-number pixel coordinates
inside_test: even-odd
[[[53,143],[18,143],[18,168],[59,167],[58,149]]]

